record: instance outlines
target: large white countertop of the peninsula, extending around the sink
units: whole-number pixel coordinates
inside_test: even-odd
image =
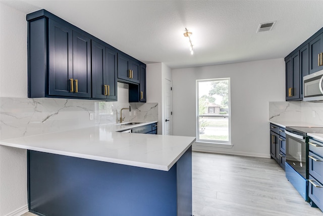
[[[195,137],[111,132],[133,126],[103,125],[0,141],[1,145],[168,171]]]

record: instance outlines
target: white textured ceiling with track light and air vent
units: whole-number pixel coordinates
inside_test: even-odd
[[[323,1],[1,1],[26,14],[46,9],[146,64],[170,68],[284,58],[323,27]],[[271,31],[256,33],[270,21]]]

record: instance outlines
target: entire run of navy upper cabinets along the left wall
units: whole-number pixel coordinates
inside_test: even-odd
[[[116,101],[118,80],[145,88],[142,62],[46,10],[26,19],[29,98]]]

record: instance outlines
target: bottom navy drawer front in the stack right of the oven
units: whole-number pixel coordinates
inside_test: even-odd
[[[308,197],[319,207],[323,209],[323,186],[311,175],[308,180]]]

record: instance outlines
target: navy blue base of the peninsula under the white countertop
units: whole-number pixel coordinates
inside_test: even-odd
[[[27,151],[29,210],[45,216],[192,214],[192,148],[169,171]]]

